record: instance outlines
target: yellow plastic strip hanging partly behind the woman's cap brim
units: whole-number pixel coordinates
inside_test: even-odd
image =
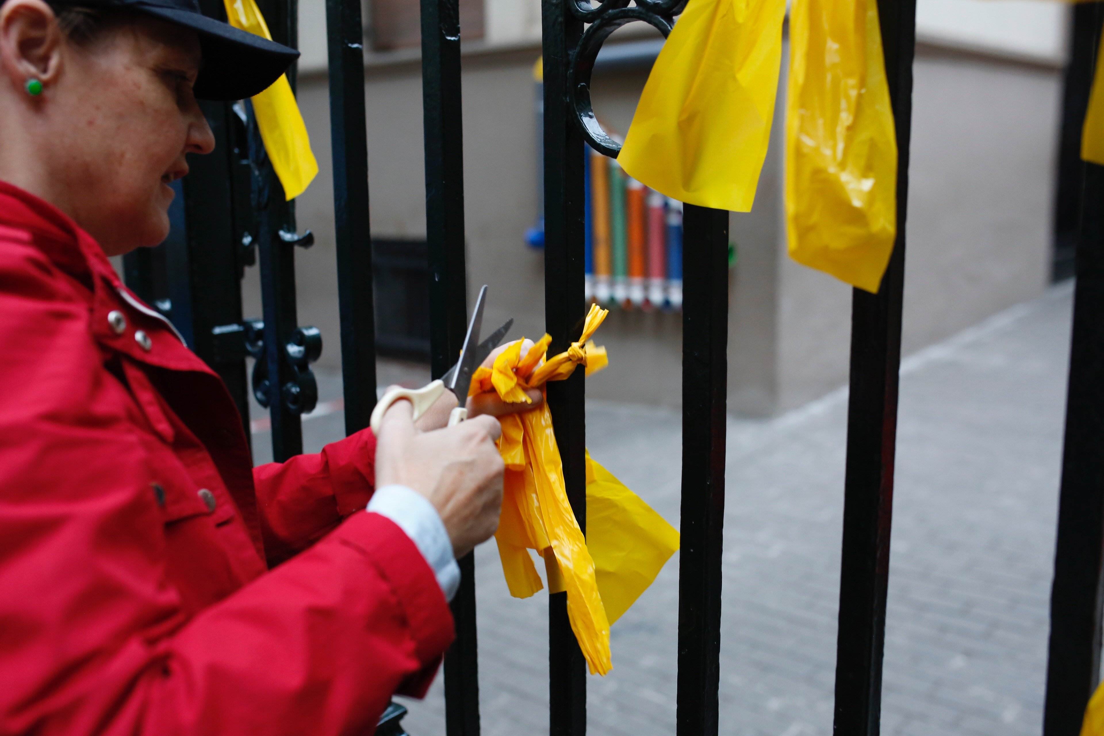
[[[268,25],[254,0],[223,0],[223,3],[231,25],[272,41]],[[253,114],[257,118],[257,129],[265,142],[268,160],[284,186],[284,194],[294,200],[318,174],[318,161],[310,150],[307,126],[287,75],[253,96]]]

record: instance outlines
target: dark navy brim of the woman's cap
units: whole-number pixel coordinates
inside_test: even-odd
[[[127,2],[126,7],[195,31],[203,52],[194,87],[198,99],[252,97],[272,86],[299,57],[295,49],[200,13],[145,2]]]

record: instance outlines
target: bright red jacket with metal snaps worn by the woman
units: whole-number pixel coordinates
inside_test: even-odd
[[[369,431],[252,468],[219,377],[3,182],[0,345],[0,734],[363,734],[424,694],[453,620],[362,511]]]

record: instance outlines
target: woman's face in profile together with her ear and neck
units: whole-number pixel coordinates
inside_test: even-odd
[[[214,137],[192,94],[192,31],[142,15],[76,43],[42,0],[0,6],[0,179],[73,217],[108,255],[169,233],[169,184]],[[41,95],[24,90],[39,78]]]

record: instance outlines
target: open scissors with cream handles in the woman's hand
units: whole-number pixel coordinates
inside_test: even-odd
[[[471,312],[471,321],[468,322],[468,332],[464,335],[464,345],[460,348],[460,360],[448,369],[445,375],[421,388],[389,388],[380,402],[372,410],[372,418],[369,426],[372,431],[380,434],[380,426],[383,424],[383,415],[388,413],[391,405],[397,401],[406,399],[414,405],[413,419],[425,414],[433,404],[440,398],[445,390],[456,395],[459,406],[448,415],[448,426],[452,427],[468,418],[468,409],[465,407],[468,401],[468,388],[471,386],[471,374],[490,355],[490,352],[502,342],[502,338],[513,327],[513,319],[506,320],[506,323],[495,330],[490,337],[479,342],[479,328],[482,326],[484,305],[487,298],[487,287],[479,289],[479,298],[476,299],[476,308]]]

